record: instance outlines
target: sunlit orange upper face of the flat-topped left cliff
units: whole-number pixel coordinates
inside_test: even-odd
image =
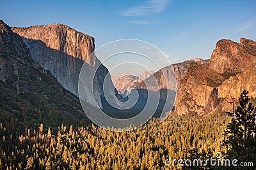
[[[12,31],[23,38],[40,40],[45,43],[47,48],[58,50],[61,53],[65,53],[84,61],[95,50],[93,37],[78,32],[67,25],[50,24],[24,28],[12,27]],[[31,44],[28,45],[30,45],[29,47],[31,48],[33,47]],[[33,51],[36,49],[34,48],[31,50]],[[40,56],[35,55],[35,57]],[[35,59],[40,60],[40,58]]]

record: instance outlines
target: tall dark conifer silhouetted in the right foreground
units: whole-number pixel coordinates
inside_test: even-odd
[[[249,101],[248,91],[244,90],[239,97],[239,106],[234,113],[228,113],[232,120],[224,133],[227,157],[240,162],[256,160],[256,108]]]

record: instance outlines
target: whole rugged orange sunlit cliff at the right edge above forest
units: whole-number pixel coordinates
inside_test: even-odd
[[[246,89],[255,94],[256,43],[241,38],[240,43],[218,41],[209,64],[191,64],[180,81],[175,109],[178,114],[205,115],[231,107]]]

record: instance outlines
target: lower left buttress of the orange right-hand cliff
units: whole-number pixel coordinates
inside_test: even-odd
[[[216,89],[209,86],[206,76],[214,74],[217,73],[208,69],[207,65],[190,64],[188,73],[180,81],[180,88],[177,93],[175,111],[178,114],[200,114],[212,110],[212,105],[216,101],[212,103],[210,96],[216,94]]]

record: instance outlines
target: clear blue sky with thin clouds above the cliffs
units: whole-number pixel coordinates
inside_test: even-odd
[[[118,39],[140,39],[159,48],[170,63],[210,59],[223,38],[256,40],[256,1],[1,0],[0,4],[0,18],[10,26],[65,24],[93,36],[96,48]]]

